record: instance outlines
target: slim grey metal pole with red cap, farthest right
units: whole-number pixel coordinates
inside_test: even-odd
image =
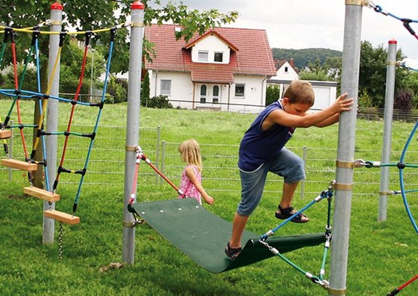
[[[396,40],[389,40],[388,63],[386,66],[385,114],[383,124],[382,163],[390,161],[392,143],[393,96],[395,94]],[[388,212],[389,167],[380,168],[380,190],[378,222],[386,221]]]

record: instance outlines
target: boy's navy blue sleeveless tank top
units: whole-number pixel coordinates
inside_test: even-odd
[[[266,117],[277,109],[283,110],[279,101],[267,106],[245,132],[239,146],[238,167],[241,170],[251,172],[274,159],[292,137],[293,127],[274,124],[268,130],[262,130]]]

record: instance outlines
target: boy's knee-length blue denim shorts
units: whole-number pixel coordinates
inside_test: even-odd
[[[240,169],[241,202],[238,204],[237,213],[249,216],[255,210],[263,196],[268,172],[282,176],[286,183],[294,183],[305,179],[303,167],[304,163],[300,157],[283,148],[274,160],[263,163],[252,172]]]

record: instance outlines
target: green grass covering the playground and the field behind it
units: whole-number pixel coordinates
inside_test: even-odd
[[[4,119],[11,101],[0,101]],[[22,102],[22,118],[31,122],[33,103]],[[60,104],[59,122],[65,128],[71,105]],[[97,109],[77,107],[73,131],[90,132]],[[214,196],[216,204],[205,206],[216,215],[232,221],[239,202],[239,175],[236,169],[239,141],[255,115],[192,110],[156,110],[141,108],[140,145],[146,155],[156,160],[155,127],[161,126],[161,139],[166,141],[165,173],[178,183],[183,164],[177,152],[178,143],[195,138],[201,144],[203,185]],[[16,123],[16,115],[12,114]],[[122,258],[122,220],[124,200],[124,155],[126,104],[107,105],[94,143],[91,164],[82,188],[77,215],[81,223],[64,225],[63,260],[58,253],[58,223],[54,245],[42,244],[42,202],[24,196],[28,186],[25,174],[14,172],[8,181],[7,170],[0,170],[0,294],[4,295],[321,295],[327,292],[312,284],[279,258],[272,258],[215,275],[199,268],[148,225],[136,227],[135,264],[112,268]],[[393,123],[393,158],[400,151],[413,124]],[[149,129],[148,129],[149,128]],[[382,121],[356,123],[355,158],[380,160],[383,137]],[[31,142],[28,131],[27,142]],[[305,198],[297,194],[294,205],[303,207],[316,194],[326,189],[335,178],[338,125],[328,128],[297,129],[288,146],[302,154],[308,146]],[[59,137],[59,147],[63,142]],[[89,140],[71,137],[68,165],[81,169]],[[15,131],[14,154],[22,157],[19,136]],[[416,137],[410,145],[407,161],[418,163]],[[415,151],[415,152],[413,152]],[[3,152],[2,152],[3,155]],[[61,151],[58,152],[58,158]],[[161,159],[160,159],[161,161]],[[155,184],[155,176],[141,163],[138,201],[176,198],[166,183]],[[399,189],[397,170],[391,169],[390,189]],[[406,174],[407,173],[407,174]],[[415,189],[416,173],[405,170],[405,183]],[[417,235],[406,215],[400,195],[389,196],[388,219],[377,222],[380,170],[355,169],[352,196],[347,294],[383,295],[418,273],[416,268]],[[56,207],[71,212],[77,191],[77,175],[62,175],[57,193],[62,200]],[[247,229],[265,233],[278,224],[274,211],[279,200],[282,180],[269,175],[263,200],[255,210]],[[298,191],[299,193],[299,191]],[[418,199],[408,195],[412,214],[418,216]],[[306,213],[311,221],[291,224],[277,235],[324,231],[327,204],[314,205]],[[211,225],[207,225],[211,227]],[[223,252],[223,250],[212,250]],[[323,247],[305,248],[287,257],[303,269],[318,274]],[[327,277],[329,276],[329,259]],[[402,291],[418,294],[418,284]]]

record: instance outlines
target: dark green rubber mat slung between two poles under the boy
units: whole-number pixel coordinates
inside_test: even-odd
[[[207,271],[221,273],[274,256],[258,242],[260,235],[245,230],[242,242],[246,243],[241,254],[235,260],[229,259],[224,249],[232,224],[204,209],[195,199],[136,203],[133,208],[153,229]],[[271,236],[267,242],[280,253],[286,253],[319,245],[325,242],[325,236],[323,233]]]

